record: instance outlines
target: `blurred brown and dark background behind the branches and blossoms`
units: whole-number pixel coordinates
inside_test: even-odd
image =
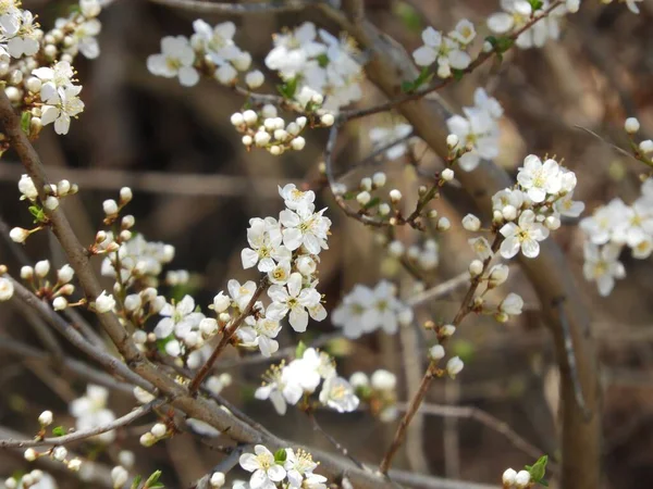
[[[427,25],[448,30],[463,17],[479,25],[482,38],[488,34],[483,20],[500,10],[498,0],[366,3],[371,21],[408,52],[421,45],[420,33]],[[24,7],[38,13],[45,26],[64,16],[69,4],[24,1]],[[642,13],[636,16],[620,4],[602,5],[586,0],[580,14],[563,22],[559,41],[549,42],[543,49],[513,50],[503,64],[483,66],[447,87],[442,96],[456,110],[472,104],[478,86],[498,99],[505,114],[501,120],[502,153],[496,163],[512,174],[529,153],[555,154],[564,158],[578,175],[575,198],[586,202],[584,215],[617,196],[630,203],[639,196],[640,174],[645,167],[616,152],[611,143],[627,147],[623,131],[626,116],[638,116],[642,133],[653,134],[653,1],[644,0],[640,5]],[[76,60],[86,109],[66,137],[58,137],[46,128],[37,149],[51,179],[65,177],[79,185],[78,196],[65,199],[63,205],[82,242],[90,243],[101,225],[102,201],[116,198],[122,186],[132,187],[135,197],[128,211],[136,217],[136,229],[148,240],[175,247],[170,268],[190,272],[188,287],[206,309],[227,279],[243,281],[257,276],[241,266],[248,220],[278,214],[283,205],[278,185],[304,183],[316,189],[320,205],[330,208],[326,215],[333,221],[330,250],[322,254],[319,267],[320,291],[325,293],[328,310],[355,284],[374,286],[381,278],[401,284],[403,297],[410,297],[414,278],[387,255],[372,229],[347,220],[323,190],[318,164],[322,161],[326,130],[310,131],[307,147],[300,152],[280,158],[263,151],[248,153],[230,124],[231,114],[242,108],[238,96],[211,80],[183,88],[175,79],[148,73],[146,59],[159,52],[161,37],[189,35],[195,18],[197,14],[192,12],[145,0],[116,0],[100,15],[100,58]],[[271,35],[281,27],[307,20],[326,29],[332,27],[311,11],[202,18],[211,24],[234,21],[238,26],[236,42],[251,52],[255,64],[263,71],[262,59],[270,50]],[[274,92],[274,76],[266,74],[266,88]],[[360,106],[383,101],[369,83],[364,85],[364,91]],[[371,128],[401,122],[381,114],[349,124],[336,147],[337,173],[346,173],[370,152]],[[419,185],[415,162],[427,171],[442,167],[442,162],[419,141],[406,156],[392,162],[379,159],[374,166],[374,171],[382,168],[387,173],[393,187],[404,191],[408,210],[414,208]],[[0,216],[10,227],[30,224],[26,205],[19,201],[16,183],[22,173],[11,153],[0,161]],[[356,185],[360,177],[370,174],[370,167],[362,168],[348,174],[346,181]],[[426,286],[460,274],[472,259],[466,242],[469,235],[459,224],[465,214],[476,211],[465,192],[448,189],[434,209],[447,216],[453,226],[446,234],[432,236],[440,247],[440,263],[428,273]],[[409,229],[398,229],[397,237],[407,246],[424,240],[423,235]],[[650,261],[633,261],[625,254],[627,278],[618,283],[612,296],[601,299],[594,285],[587,284],[581,275],[581,231],[571,224],[555,233],[553,239],[566,251],[567,265],[576,272],[578,286],[593,314],[604,387],[605,487],[648,487],[645,480],[653,478],[653,268]],[[11,248],[7,241],[0,242],[0,262],[17,269],[20,263]],[[48,258],[56,265],[64,263],[58,244],[46,233],[29,239],[24,251],[33,262]],[[100,260],[96,265],[99,269]],[[482,410],[555,459],[559,399],[551,337],[540,317],[537,297],[518,268],[512,269],[510,280],[504,286],[504,293],[508,291],[525,298],[527,312],[504,325],[491,318],[467,318],[452,343],[466,362],[464,374],[455,383],[433,384],[428,403],[435,406],[435,413],[416,418],[396,467],[496,487],[506,467],[520,468],[533,462],[533,455],[516,447],[515,440],[479,422],[483,414],[453,410],[446,416],[438,415],[442,410],[436,406],[445,404]],[[420,306],[416,311],[419,323],[451,318],[463,293],[457,289]],[[312,322],[301,339],[307,343],[322,341],[323,335],[337,336],[333,333],[337,330],[329,319]],[[25,319],[10,308],[0,309],[0,334],[45,350]],[[295,344],[299,338],[284,328],[279,339],[283,348]],[[65,341],[60,342],[71,355],[78,355]],[[356,371],[371,374],[379,367],[395,373],[399,402],[407,400],[407,390],[414,389],[421,378],[426,358],[426,343],[411,328],[394,337],[377,333],[354,342],[336,339],[324,348],[336,355],[344,376]],[[67,405],[85,391],[86,381],[63,375],[44,358],[19,354],[9,343],[0,344],[0,426],[29,437],[45,409],[54,411],[59,424],[73,425]],[[222,372],[234,379],[223,392],[227,399],[278,435],[332,450],[300,413],[291,410],[280,417],[268,402],[252,400],[254,388],[268,363],[239,366],[232,361],[236,358],[233,349],[224,354],[226,364]],[[130,394],[111,394],[110,406],[119,415],[132,405]],[[318,418],[354,456],[372,464],[380,461],[396,427],[396,423],[382,424],[362,412],[319,412]],[[91,447],[84,443],[76,450],[111,467],[118,451],[134,449],[145,453],[137,457],[136,472],[149,474],[160,468],[162,480],[172,488],[189,487],[223,456],[190,435],[180,435],[139,452],[138,437],[134,435],[144,430],[147,428],[139,428],[137,423],[119,431],[116,442],[106,453],[89,452]],[[9,476],[26,467],[21,453],[0,452],[0,475]],[[57,472],[57,467],[52,474],[61,488],[101,486],[79,481],[71,473]]]

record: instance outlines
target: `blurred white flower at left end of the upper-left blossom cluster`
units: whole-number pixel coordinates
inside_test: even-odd
[[[184,36],[167,36],[161,39],[161,53],[147,59],[147,68],[152,75],[165,78],[178,77],[185,87],[199,82],[199,74],[193,67],[195,51]]]

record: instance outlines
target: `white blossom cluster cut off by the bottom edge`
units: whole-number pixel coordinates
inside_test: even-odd
[[[239,459],[241,467],[250,472],[249,482],[235,481],[233,489],[326,489],[326,477],[316,474],[318,463],[310,453],[291,448],[272,453],[262,444],[254,447],[254,453],[244,453]],[[220,474],[220,473],[218,473]],[[221,487],[224,477],[219,477]],[[212,481],[212,478],[211,478]]]

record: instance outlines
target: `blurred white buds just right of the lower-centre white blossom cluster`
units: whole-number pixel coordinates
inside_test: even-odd
[[[371,377],[364,372],[355,372],[349,384],[379,421],[392,423],[397,418],[397,378],[392,372],[378,369]]]

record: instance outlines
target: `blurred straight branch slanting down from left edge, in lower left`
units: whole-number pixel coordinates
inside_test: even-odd
[[[3,335],[0,336],[0,352],[14,354],[21,360],[29,359],[51,364],[52,366],[57,365],[57,367],[62,368],[63,372],[70,371],[71,374],[79,378],[84,378],[93,384],[106,386],[110,389],[120,390],[130,396],[132,396],[134,389],[132,385],[116,380],[112,376],[101,371],[95,369],[87,363],[69,358],[63,358],[60,361],[57,361],[52,358],[52,355],[48,354],[47,352],[37,350],[36,348],[32,348],[27,344],[14,340],[13,338]]]

